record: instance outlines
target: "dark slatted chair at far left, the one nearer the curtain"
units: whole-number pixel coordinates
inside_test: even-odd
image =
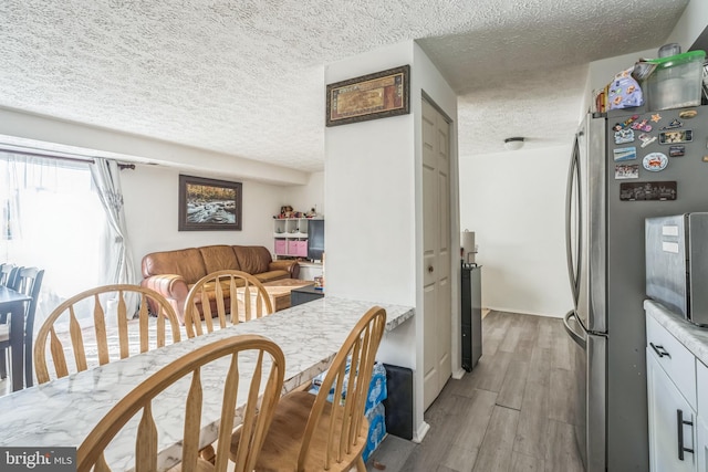
[[[24,385],[32,387],[32,338],[34,332],[34,313],[44,279],[44,270],[37,268],[18,268],[12,290],[31,296],[24,312]],[[7,349],[10,347],[10,329],[6,323],[0,325],[0,378],[8,376]]]

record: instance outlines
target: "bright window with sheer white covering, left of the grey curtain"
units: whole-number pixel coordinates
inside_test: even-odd
[[[37,327],[64,300],[106,283],[108,229],[88,166],[0,153],[0,260],[44,269]]]

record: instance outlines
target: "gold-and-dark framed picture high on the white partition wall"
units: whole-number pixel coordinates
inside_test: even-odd
[[[326,126],[410,113],[410,66],[388,69],[327,85]]]

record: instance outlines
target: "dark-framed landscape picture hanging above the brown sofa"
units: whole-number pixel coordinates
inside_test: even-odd
[[[179,176],[179,231],[241,230],[241,182]]]

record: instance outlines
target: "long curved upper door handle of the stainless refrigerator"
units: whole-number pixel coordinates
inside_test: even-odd
[[[576,188],[575,188],[576,186]],[[582,229],[582,214],[581,214],[581,181],[580,181],[580,144],[579,137],[575,136],[575,143],[573,144],[573,155],[571,156],[571,166],[568,172],[568,186],[565,190],[565,259],[568,262],[568,275],[571,282],[571,290],[573,292],[573,304],[577,307],[577,300],[580,296],[580,264],[581,264],[581,238],[583,234]],[[577,198],[573,199],[573,190],[577,192]],[[573,219],[573,203],[576,204],[576,214]],[[577,225],[576,238],[577,241],[573,241],[573,223]],[[573,243],[575,247],[573,248]]]

